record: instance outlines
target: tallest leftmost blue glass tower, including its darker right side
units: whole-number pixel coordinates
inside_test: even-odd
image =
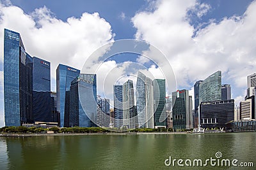
[[[33,60],[18,32],[4,29],[4,121],[6,126],[33,122]]]

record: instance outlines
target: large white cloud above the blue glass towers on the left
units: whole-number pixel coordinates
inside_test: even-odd
[[[54,83],[59,63],[81,69],[94,50],[113,41],[115,36],[111,25],[100,18],[99,13],[83,13],[79,18],[70,17],[64,22],[45,6],[31,14],[12,5],[1,4],[0,8],[0,36],[3,38],[4,28],[20,32],[26,52],[51,62]],[[3,53],[3,41],[0,53]]]

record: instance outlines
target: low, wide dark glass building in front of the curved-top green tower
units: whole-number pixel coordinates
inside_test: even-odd
[[[203,128],[223,128],[227,122],[234,120],[234,99],[203,102],[200,104],[200,111]]]

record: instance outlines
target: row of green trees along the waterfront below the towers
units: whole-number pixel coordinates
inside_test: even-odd
[[[0,132],[3,133],[46,133],[47,131],[53,131],[54,133],[104,133],[104,132],[172,132],[173,129],[149,129],[149,128],[138,128],[138,129],[117,129],[117,128],[102,128],[102,127],[51,127],[44,129],[42,127],[2,127]]]

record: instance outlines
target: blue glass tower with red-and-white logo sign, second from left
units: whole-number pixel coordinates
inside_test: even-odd
[[[51,122],[51,63],[33,57],[33,119]]]

